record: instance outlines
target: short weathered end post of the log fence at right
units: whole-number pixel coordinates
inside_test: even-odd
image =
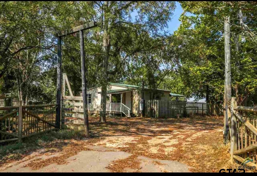
[[[230,133],[230,162],[233,164],[234,159],[234,151],[237,150],[237,137],[236,137],[236,116],[233,113],[234,108],[237,106],[236,97],[232,97],[231,99],[231,120],[230,120],[230,127],[231,127],[231,133]]]

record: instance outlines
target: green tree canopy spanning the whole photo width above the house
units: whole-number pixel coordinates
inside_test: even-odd
[[[84,32],[87,86],[107,82],[168,89],[186,98],[223,101],[224,17],[231,17],[232,95],[257,103],[256,2],[180,2],[181,24],[165,29],[175,2],[0,3],[0,93],[23,100],[56,98],[57,31],[89,21]],[[62,40],[62,72],[81,90],[79,35]],[[26,101],[26,102],[27,102]],[[103,101],[104,102],[104,101]]]

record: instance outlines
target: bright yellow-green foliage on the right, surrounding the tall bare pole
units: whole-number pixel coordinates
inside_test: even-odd
[[[180,2],[184,12],[181,25],[175,31],[173,45],[177,48],[180,65],[176,73],[169,75],[164,83],[176,93],[187,97],[204,98],[209,91],[211,101],[223,101],[224,94],[224,17],[231,16],[231,67],[232,96],[236,84],[240,87],[240,102],[248,96],[254,104],[256,98],[256,14],[255,2]],[[239,9],[243,11],[244,23],[251,32],[240,28]],[[255,16],[255,15],[254,15]],[[239,26],[239,27],[238,27]],[[239,36],[238,56],[235,36]],[[255,36],[255,37],[253,37]],[[251,46],[251,47],[250,47]],[[240,67],[237,62],[239,61]],[[175,84],[177,82],[177,84]],[[252,103],[253,103],[252,102]]]

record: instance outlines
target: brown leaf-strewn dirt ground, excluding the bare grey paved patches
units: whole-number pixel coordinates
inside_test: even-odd
[[[236,164],[229,164],[230,154],[223,145],[223,117],[108,118],[106,124],[99,124],[98,118],[89,118],[90,139],[74,132],[76,137],[72,137],[69,134],[72,130],[66,130],[69,137],[59,137],[58,133],[63,132],[52,132],[54,135],[48,134],[47,140],[41,141],[37,148],[27,147],[27,151],[17,158],[11,157],[17,154],[16,150],[6,153],[0,160],[1,169],[11,167],[10,163],[17,163],[17,160],[18,163],[30,160],[23,167],[32,170],[53,163],[63,165],[79,152],[94,150],[90,147],[99,146],[106,147],[105,151],[131,154],[109,163],[106,169],[112,172],[141,172],[142,157],[154,159],[151,160],[152,164],[160,168],[165,165],[161,160],[178,161],[190,166],[192,172],[218,172],[220,169],[237,168]],[[55,137],[49,139],[49,136]],[[165,169],[160,171],[167,172]]]

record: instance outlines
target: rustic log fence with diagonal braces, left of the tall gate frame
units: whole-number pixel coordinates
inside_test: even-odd
[[[57,104],[0,107],[0,143],[22,141],[22,138],[57,128]]]

